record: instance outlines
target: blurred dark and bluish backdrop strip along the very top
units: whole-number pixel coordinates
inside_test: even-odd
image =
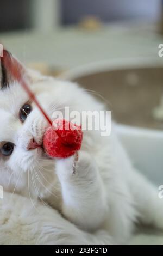
[[[77,24],[87,16],[102,22],[158,21],[160,0],[5,0],[1,1],[0,29],[54,29]]]

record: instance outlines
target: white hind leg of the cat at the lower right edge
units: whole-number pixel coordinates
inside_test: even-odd
[[[140,222],[163,229],[163,200],[159,198],[159,191],[136,170],[129,176],[130,193]]]

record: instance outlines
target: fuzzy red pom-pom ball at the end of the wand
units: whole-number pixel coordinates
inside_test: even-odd
[[[81,148],[83,132],[81,126],[66,120],[56,119],[43,137],[43,148],[48,156],[69,157]]]

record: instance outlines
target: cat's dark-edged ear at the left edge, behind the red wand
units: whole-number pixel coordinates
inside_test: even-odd
[[[0,72],[1,89],[9,87],[18,77],[24,76],[26,73],[24,66],[15,57],[7,50],[3,50]]]

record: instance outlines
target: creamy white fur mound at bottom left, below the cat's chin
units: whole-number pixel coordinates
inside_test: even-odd
[[[106,231],[86,233],[54,209],[17,194],[4,193],[0,200],[1,245],[106,245]]]

